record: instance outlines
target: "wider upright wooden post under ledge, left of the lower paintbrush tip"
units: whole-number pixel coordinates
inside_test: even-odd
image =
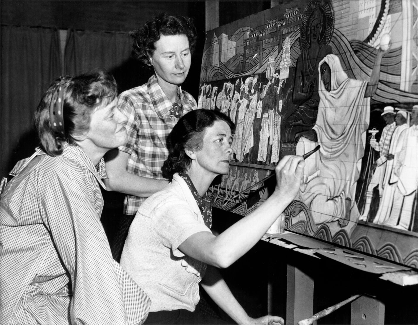
[[[314,279],[295,266],[287,267],[286,324],[314,314]]]

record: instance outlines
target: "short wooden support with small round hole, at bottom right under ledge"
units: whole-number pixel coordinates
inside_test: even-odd
[[[385,305],[379,300],[362,296],[351,303],[351,325],[384,325]]]

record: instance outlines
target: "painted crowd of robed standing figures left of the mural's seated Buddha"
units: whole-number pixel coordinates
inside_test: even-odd
[[[280,86],[278,74],[265,85],[257,77],[224,82],[219,94],[217,87],[201,85],[199,108],[219,110],[236,125],[232,144],[236,161],[272,165],[279,161]]]

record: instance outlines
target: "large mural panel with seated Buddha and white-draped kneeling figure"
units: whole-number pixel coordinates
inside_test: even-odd
[[[214,206],[246,215],[281,157],[320,145],[286,228],[418,268],[417,8],[289,1],[208,31],[199,108],[236,125]]]

